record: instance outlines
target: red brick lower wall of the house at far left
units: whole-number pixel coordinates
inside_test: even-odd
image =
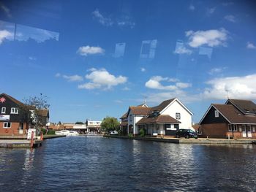
[[[19,134],[19,126],[20,126],[20,123],[12,122],[12,125],[10,128],[4,128],[4,122],[0,122],[0,135],[6,135],[6,136],[26,135],[26,129],[28,129],[27,123],[23,123],[23,134]]]

